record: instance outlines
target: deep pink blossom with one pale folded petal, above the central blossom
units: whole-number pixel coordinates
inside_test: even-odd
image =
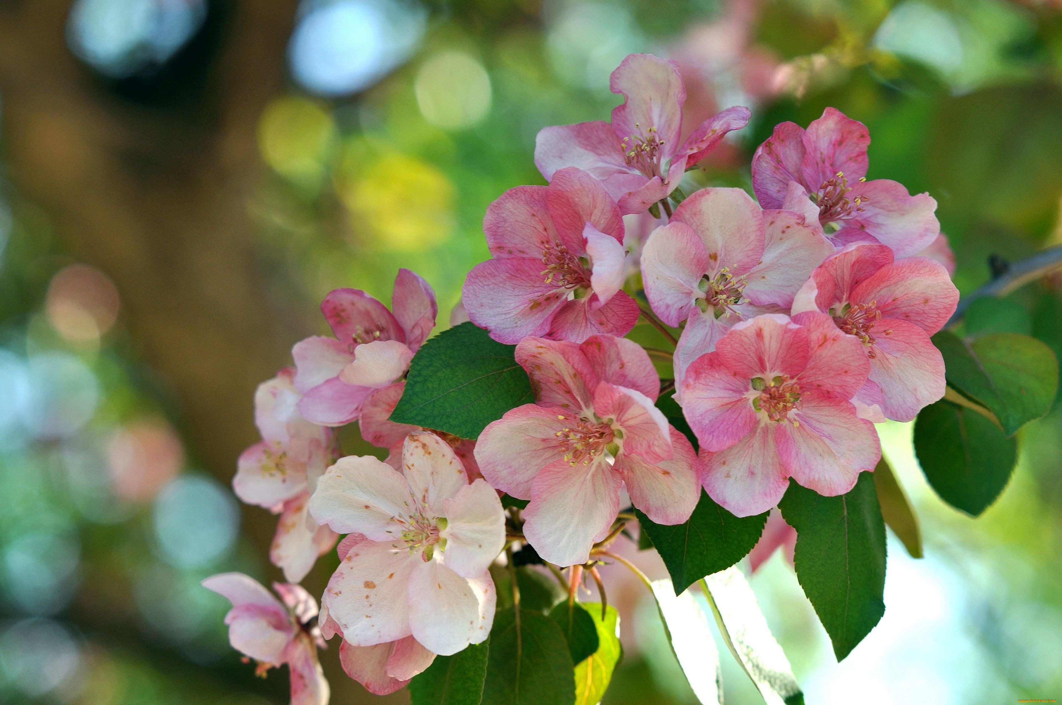
[[[494,259],[468,273],[462,300],[494,340],[578,343],[634,327],[638,305],[620,289],[623,221],[586,172],[562,169],[549,186],[509,189],[486,209],[483,231]]]

